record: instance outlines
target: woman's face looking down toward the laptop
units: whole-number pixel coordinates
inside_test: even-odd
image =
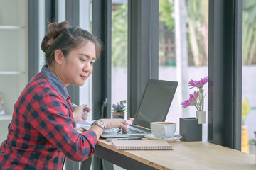
[[[82,86],[92,74],[93,64],[96,60],[95,45],[86,42],[75,50],[70,51],[61,67],[60,81],[66,87],[69,84]]]

